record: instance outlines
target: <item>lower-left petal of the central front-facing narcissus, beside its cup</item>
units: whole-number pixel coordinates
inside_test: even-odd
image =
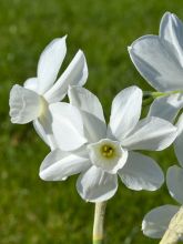
[[[54,150],[48,154],[40,167],[40,177],[44,181],[62,181],[89,169],[90,161],[80,154]]]

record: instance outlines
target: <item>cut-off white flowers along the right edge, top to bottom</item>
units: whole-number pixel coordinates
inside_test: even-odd
[[[160,23],[159,35],[144,35],[129,48],[130,57],[148,82],[162,92],[155,99],[149,116],[174,122],[183,108],[183,22],[166,12]],[[183,114],[177,119],[174,149],[183,166]],[[174,165],[167,170],[170,194],[183,205],[183,169]],[[164,205],[148,213],[142,222],[143,233],[153,238],[163,236],[180,206]]]

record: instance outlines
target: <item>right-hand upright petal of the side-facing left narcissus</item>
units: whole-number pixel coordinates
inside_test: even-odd
[[[87,79],[88,65],[85,57],[84,53],[79,50],[67,70],[44,96],[49,102],[59,102],[65,96],[69,85],[83,85]]]

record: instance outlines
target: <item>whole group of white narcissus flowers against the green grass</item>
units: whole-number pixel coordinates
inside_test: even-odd
[[[53,40],[41,53],[37,78],[10,92],[12,123],[33,121],[38,134],[51,152],[40,166],[44,181],[63,181],[79,174],[77,191],[89,202],[111,199],[118,190],[118,176],[135,191],[155,191],[164,175],[153,159],[136,150],[161,151],[174,142],[183,166],[183,23],[171,13],[162,18],[159,35],[145,35],[129,47],[130,57],[159,96],[145,119],[140,119],[143,92],[138,87],[122,90],[114,98],[106,124],[99,99],[82,88],[88,65],[78,51],[57,80],[67,53],[65,37]],[[57,80],[57,81],[55,81]],[[54,83],[55,81],[55,83]],[[61,102],[65,95],[69,103]],[[167,187],[183,204],[183,170],[167,171]],[[143,232],[161,237],[176,206],[165,205],[150,212]],[[160,217],[161,215],[161,217]]]

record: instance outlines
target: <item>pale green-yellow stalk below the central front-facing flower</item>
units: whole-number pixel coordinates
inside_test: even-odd
[[[103,244],[105,207],[106,207],[106,202],[95,203],[94,224],[93,224],[93,244]]]

